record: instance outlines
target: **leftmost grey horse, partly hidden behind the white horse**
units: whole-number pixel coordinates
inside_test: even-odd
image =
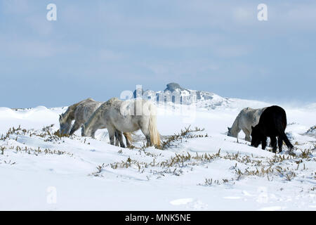
[[[111,98],[109,102],[117,101],[117,98]],[[67,108],[67,111],[62,115],[59,115],[59,123],[60,123],[60,134],[74,134],[77,131],[81,124],[84,124],[88,121],[91,115],[102,105],[103,102],[94,101],[92,98],[87,98],[84,101],[80,101],[79,103],[75,103],[74,105],[70,105]],[[72,125],[72,121],[74,120],[74,124]],[[104,129],[105,127],[100,127],[100,129]],[[115,136],[119,136],[121,134],[118,131]],[[126,144],[129,146],[132,139],[131,134],[124,134],[126,138]],[[116,145],[118,146],[118,139],[116,141]]]

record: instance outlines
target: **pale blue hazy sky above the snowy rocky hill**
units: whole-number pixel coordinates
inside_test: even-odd
[[[51,3],[57,21],[46,20]],[[1,0],[0,106],[107,101],[169,82],[312,103],[315,39],[315,1]]]

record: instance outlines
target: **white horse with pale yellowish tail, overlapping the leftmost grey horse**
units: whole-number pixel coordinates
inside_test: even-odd
[[[100,127],[107,128],[112,145],[116,130],[133,132],[140,129],[146,137],[147,146],[160,146],[156,107],[150,101],[131,99],[103,103],[82,126],[82,134],[93,137]],[[121,143],[121,136],[118,138]]]

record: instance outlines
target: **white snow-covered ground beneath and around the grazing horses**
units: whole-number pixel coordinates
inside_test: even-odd
[[[243,107],[268,104],[208,104],[158,108],[164,150],[143,148],[141,132],[133,149],[106,129],[60,138],[66,108],[0,108],[0,210],[316,210],[315,107],[283,106],[296,150],[275,155],[225,135]]]

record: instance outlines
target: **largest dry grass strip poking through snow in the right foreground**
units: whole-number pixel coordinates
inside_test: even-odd
[[[241,155],[239,153],[221,154],[220,150],[218,150],[218,153],[214,154],[195,153],[194,155],[191,155],[190,153],[175,153],[175,155],[171,156],[169,159],[158,161],[157,155],[140,150],[140,153],[152,158],[152,161],[141,162],[129,157],[126,161],[100,165],[97,167],[98,171],[92,175],[102,176],[103,169],[110,167],[111,169],[136,169],[136,172],[142,174],[144,172],[150,173],[157,176],[157,179],[160,179],[166,176],[166,174],[181,176],[184,168],[191,168],[192,170],[195,166],[204,165],[208,167],[214,160],[230,160],[235,162],[235,167],[233,167],[233,169],[235,169],[234,177],[217,180],[207,178],[203,184],[198,185],[212,186],[215,184],[235,184],[235,181],[244,179],[246,176],[266,177],[268,181],[273,181],[275,177],[284,179],[284,181],[292,181],[293,179],[296,179],[301,171],[308,169],[305,167],[304,162],[315,160],[315,158],[312,157],[314,151],[315,148],[302,150],[298,155],[274,155],[272,158],[263,158],[254,157],[254,155]],[[239,169],[238,165],[246,165],[247,168]]]

